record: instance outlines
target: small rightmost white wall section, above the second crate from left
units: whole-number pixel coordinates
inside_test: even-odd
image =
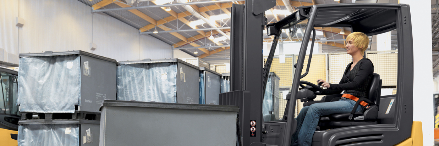
[[[149,35],[140,35],[140,48],[142,58],[161,59],[172,58],[171,45],[155,39]]]

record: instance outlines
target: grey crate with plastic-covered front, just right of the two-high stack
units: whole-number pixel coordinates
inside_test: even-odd
[[[199,103],[200,69],[180,59],[122,61],[117,100]]]

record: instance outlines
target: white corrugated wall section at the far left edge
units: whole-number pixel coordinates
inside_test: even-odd
[[[15,19],[18,17],[18,0],[0,1],[0,48],[17,54],[18,30]]]

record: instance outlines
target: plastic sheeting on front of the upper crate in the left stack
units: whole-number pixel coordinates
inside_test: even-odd
[[[80,57],[21,57],[18,104],[22,112],[74,113],[81,105]]]

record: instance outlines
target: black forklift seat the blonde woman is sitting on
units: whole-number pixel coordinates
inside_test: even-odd
[[[354,126],[354,125],[373,125],[378,122],[378,107],[381,96],[381,82],[380,75],[374,73],[371,84],[369,86],[369,96],[363,99],[369,103],[368,108],[363,109],[363,112],[355,112],[345,114],[331,114],[327,116],[326,120],[320,121],[320,127],[325,126]],[[339,99],[339,98],[338,98]],[[359,100],[360,101],[360,100]],[[359,106],[357,101],[356,106]],[[356,109],[356,107],[354,107]],[[328,119],[329,118],[329,119]]]

